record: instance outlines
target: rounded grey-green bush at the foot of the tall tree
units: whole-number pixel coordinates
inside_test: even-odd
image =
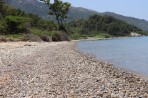
[[[70,41],[68,34],[58,31],[52,35],[52,41]]]

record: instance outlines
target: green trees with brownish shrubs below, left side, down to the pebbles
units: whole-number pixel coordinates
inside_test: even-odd
[[[5,4],[1,8],[3,13],[0,13],[0,37],[15,37],[23,41],[69,40],[68,34],[62,31],[56,32],[61,29],[54,21],[42,19],[38,15],[25,13]]]

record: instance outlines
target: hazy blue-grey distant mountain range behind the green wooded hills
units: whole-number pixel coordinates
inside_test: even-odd
[[[6,0],[6,2],[28,13],[34,13],[43,18],[53,19],[53,17],[48,16],[48,6],[44,3],[38,2],[38,0]],[[78,19],[78,18],[86,19],[92,14],[110,15],[117,19],[124,20],[129,24],[137,26],[142,30],[148,31],[148,21],[146,20],[137,19],[133,17],[126,17],[126,16],[115,14],[115,13],[111,13],[111,12],[98,13],[96,11],[92,11],[82,7],[71,7],[68,14],[69,16],[68,21]]]

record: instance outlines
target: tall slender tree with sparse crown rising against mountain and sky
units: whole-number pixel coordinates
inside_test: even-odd
[[[62,2],[61,0],[54,0],[54,3],[50,3],[50,0],[40,1],[44,1],[49,6],[49,15],[55,16],[59,29],[67,32],[63,20],[67,18],[67,13],[71,4],[68,2]]]

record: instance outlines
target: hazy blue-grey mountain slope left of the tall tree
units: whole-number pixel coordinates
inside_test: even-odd
[[[38,0],[6,0],[6,3],[27,13],[37,14],[41,17],[48,15],[48,6]]]

